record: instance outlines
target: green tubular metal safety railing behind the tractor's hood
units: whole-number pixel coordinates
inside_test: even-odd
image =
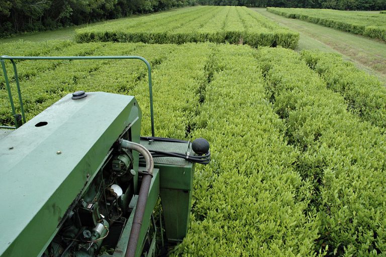
[[[17,87],[18,96],[19,96],[20,111],[22,113],[21,118],[22,118],[23,122],[25,123],[26,122],[26,116],[24,113],[22,94],[20,91],[20,82],[19,82],[18,71],[16,68],[15,60],[106,60],[106,59],[111,59],[111,60],[114,60],[114,59],[137,59],[137,60],[143,61],[146,64],[147,71],[148,71],[148,80],[149,80],[151,135],[154,136],[154,113],[153,113],[153,91],[152,91],[152,82],[151,82],[151,67],[150,67],[149,62],[141,56],[7,56],[7,55],[0,56],[0,62],[2,63],[2,67],[3,67],[3,73],[4,73],[4,78],[6,81],[8,96],[10,98],[12,114],[13,114],[14,119],[15,119],[15,127],[0,126],[0,128],[17,129],[18,127],[21,126],[20,121],[18,121],[18,114],[16,113],[15,104],[14,104],[14,100],[12,97],[11,85],[10,85],[10,81],[8,78],[5,60],[10,60],[12,65],[13,65],[13,68],[14,68],[16,87]]]

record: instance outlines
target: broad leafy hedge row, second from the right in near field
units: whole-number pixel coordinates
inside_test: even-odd
[[[314,183],[317,248],[328,246],[339,256],[384,254],[386,137],[348,112],[343,97],[328,90],[298,53],[262,48],[257,63],[288,143],[302,151],[296,170]]]

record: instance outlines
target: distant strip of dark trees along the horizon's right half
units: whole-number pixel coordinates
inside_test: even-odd
[[[198,0],[200,5],[386,10],[386,0]]]

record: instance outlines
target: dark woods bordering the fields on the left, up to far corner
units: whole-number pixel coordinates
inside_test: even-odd
[[[196,5],[196,0],[0,0],[0,37]]]

